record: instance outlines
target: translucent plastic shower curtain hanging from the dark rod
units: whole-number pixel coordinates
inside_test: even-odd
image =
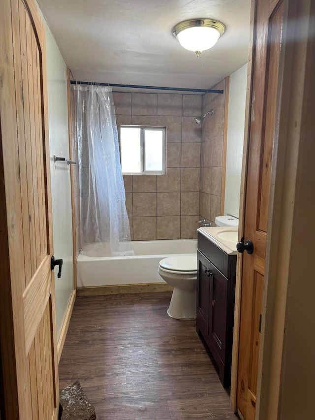
[[[81,248],[133,255],[111,88],[72,85],[79,163]]]

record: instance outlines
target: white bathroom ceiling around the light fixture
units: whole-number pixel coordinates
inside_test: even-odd
[[[194,89],[211,88],[247,62],[250,3],[38,0],[76,80]],[[172,34],[177,23],[196,18],[226,27],[218,43],[199,57]]]

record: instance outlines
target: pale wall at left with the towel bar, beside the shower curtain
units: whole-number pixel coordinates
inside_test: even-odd
[[[54,155],[69,158],[67,85],[66,65],[47,25],[46,55],[54,255],[63,258],[60,279],[57,266],[55,269],[59,339],[73,291],[71,186],[69,166],[65,162],[53,161]]]

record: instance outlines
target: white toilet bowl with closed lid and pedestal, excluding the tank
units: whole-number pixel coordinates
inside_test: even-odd
[[[158,274],[174,287],[167,314],[177,320],[196,319],[197,254],[163,258]]]

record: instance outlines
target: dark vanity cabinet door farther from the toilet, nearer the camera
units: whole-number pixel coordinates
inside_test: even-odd
[[[210,274],[209,338],[224,364],[228,280],[213,264],[210,264]]]

